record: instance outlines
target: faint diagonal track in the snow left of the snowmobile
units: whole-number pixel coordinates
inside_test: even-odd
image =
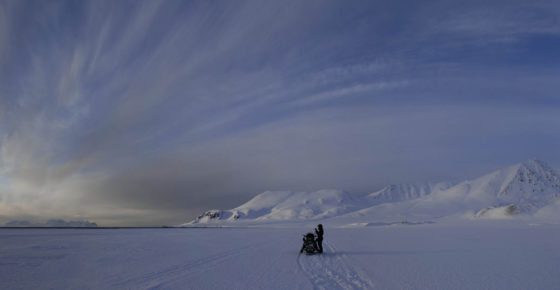
[[[165,285],[170,282],[184,279],[190,275],[196,275],[201,272],[211,270],[211,268],[213,268],[213,265],[219,265],[226,260],[235,258],[240,255],[244,255],[245,251],[249,249],[253,249],[255,247],[257,248],[264,247],[268,244],[269,244],[268,242],[261,242],[258,244],[232,249],[190,263],[174,265],[162,270],[139,275],[134,278],[114,282],[111,283],[112,284],[111,286],[119,289],[159,289],[162,287],[165,288]]]

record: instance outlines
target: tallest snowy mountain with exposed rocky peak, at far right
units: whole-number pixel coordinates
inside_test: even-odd
[[[426,220],[445,216],[508,218],[540,215],[560,203],[560,178],[544,162],[525,162],[434,190],[417,199],[384,203],[345,215],[344,219]],[[560,217],[560,215],[558,215]]]

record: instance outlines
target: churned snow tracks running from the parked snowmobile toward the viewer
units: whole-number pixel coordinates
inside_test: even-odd
[[[346,255],[337,254],[331,243],[318,255],[299,255],[297,263],[307,275],[313,289],[372,289],[374,284],[363,273],[353,269]]]

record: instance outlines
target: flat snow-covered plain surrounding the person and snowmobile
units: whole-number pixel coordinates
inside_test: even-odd
[[[558,289],[560,225],[2,229],[0,289]]]

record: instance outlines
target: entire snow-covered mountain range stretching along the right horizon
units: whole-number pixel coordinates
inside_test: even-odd
[[[552,208],[554,207],[554,208]],[[560,177],[537,159],[456,185],[389,185],[364,197],[340,190],[267,191],[231,210],[211,210],[189,224],[232,221],[431,219],[451,215],[504,218],[550,215],[560,207]]]

